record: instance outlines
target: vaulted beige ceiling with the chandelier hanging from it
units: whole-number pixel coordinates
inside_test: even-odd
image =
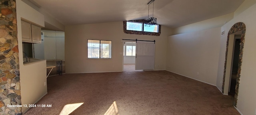
[[[29,0],[64,25],[148,19],[150,0]],[[176,28],[234,12],[244,0],[155,0],[157,23]],[[153,4],[150,4],[152,17]]]

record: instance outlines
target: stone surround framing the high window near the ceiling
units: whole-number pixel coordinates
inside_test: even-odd
[[[131,20],[131,22],[145,22],[146,20]],[[161,25],[158,25],[158,33],[155,32],[140,32],[140,31],[132,31],[132,30],[126,30],[126,22],[124,21],[124,33],[126,34],[138,34],[138,35],[150,35],[150,36],[160,36],[161,34]]]

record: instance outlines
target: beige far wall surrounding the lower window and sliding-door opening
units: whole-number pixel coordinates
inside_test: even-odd
[[[66,73],[123,71],[122,39],[156,40],[155,69],[165,70],[166,40],[170,29],[162,26],[160,36],[125,34],[123,22],[66,26]],[[112,59],[87,59],[87,40],[112,40]]]

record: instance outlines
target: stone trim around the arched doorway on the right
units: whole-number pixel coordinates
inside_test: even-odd
[[[238,97],[238,89],[239,89],[239,83],[240,83],[240,74],[241,74],[241,66],[242,66],[242,57],[243,57],[243,49],[244,49],[244,36],[246,32],[245,24],[242,22],[238,22],[234,24],[229,32],[228,32],[228,39],[227,39],[227,47],[226,47],[226,57],[225,57],[225,64],[224,64],[224,76],[223,76],[223,82],[222,82],[222,93],[224,93],[224,84],[225,84],[225,75],[226,75],[226,67],[227,67],[227,57],[228,57],[228,42],[229,42],[229,35],[242,31],[242,37],[241,37],[241,43],[240,43],[240,53],[239,53],[239,62],[238,62],[238,73],[236,77],[236,89],[235,89],[235,101],[234,106],[236,107],[237,103],[237,97]]]

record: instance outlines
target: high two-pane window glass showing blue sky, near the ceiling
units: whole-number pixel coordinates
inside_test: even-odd
[[[143,26],[142,26],[143,24]],[[150,27],[145,26],[142,22],[126,22],[126,30],[142,31],[143,32],[155,32],[158,33],[158,24],[154,24]]]

